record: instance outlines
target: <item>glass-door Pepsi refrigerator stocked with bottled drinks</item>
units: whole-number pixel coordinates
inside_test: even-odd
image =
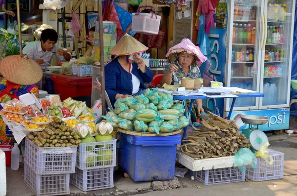
[[[228,1],[226,86],[265,94],[264,98],[238,98],[232,112],[241,128],[241,115],[269,117],[259,128],[289,127],[290,78],[295,0]],[[230,99],[225,100],[225,115]]]

